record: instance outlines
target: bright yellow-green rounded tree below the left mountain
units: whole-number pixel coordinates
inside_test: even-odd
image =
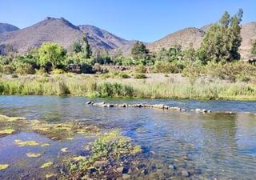
[[[44,42],[38,49],[38,56],[40,66],[44,66],[49,72],[50,68],[55,68],[64,60],[66,50],[56,43]]]

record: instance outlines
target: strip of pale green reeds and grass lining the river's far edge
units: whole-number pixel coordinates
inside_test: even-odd
[[[256,100],[252,82],[198,78],[181,74],[146,74],[146,78],[106,74],[2,75],[0,94],[74,95],[90,98],[181,98]]]

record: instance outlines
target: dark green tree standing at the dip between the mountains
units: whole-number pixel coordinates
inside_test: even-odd
[[[146,49],[146,46],[143,44],[143,42],[136,42],[134,46],[131,49],[131,55],[134,58],[134,60],[146,60],[150,58],[149,56],[149,50]]]

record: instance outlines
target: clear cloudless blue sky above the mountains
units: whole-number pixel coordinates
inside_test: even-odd
[[[94,25],[121,38],[153,42],[176,30],[217,22],[225,10],[256,22],[256,0],[1,0],[0,22],[23,28],[46,17]]]

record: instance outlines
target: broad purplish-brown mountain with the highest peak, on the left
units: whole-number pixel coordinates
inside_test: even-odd
[[[82,34],[86,34],[93,50],[114,50],[133,44],[132,41],[119,38],[96,26],[74,26],[65,18],[48,17],[33,26],[0,34],[0,47],[10,44],[18,52],[23,53],[32,47],[41,46],[42,42],[56,42],[64,48],[69,49],[74,41],[82,38]]]

